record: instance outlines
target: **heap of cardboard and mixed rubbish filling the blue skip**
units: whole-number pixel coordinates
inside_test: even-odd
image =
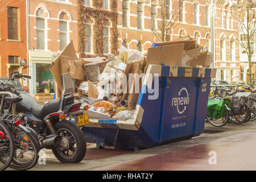
[[[62,92],[60,76],[71,73],[74,96],[89,105],[89,118],[131,118],[142,88],[143,73],[148,65],[175,65],[209,67],[212,54],[190,37],[171,42],[154,43],[147,56],[139,51],[119,49],[119,55],[78,58],[73,42],[52,62],[50,71],[56,80],[58,93]],[[77,90],[77,91],[76,91]]]

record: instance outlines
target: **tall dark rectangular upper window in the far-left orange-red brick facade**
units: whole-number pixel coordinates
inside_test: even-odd
[[[8,39],[18,40],[19,33],[18,33],[18,8],[16,7],[8,7],[7,9],[7,16],[8,16]]]

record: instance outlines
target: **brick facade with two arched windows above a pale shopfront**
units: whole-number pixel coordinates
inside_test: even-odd
[[[30,93],[44,92],[44,81],[54,79],[49,67],[57,54],[73,40],[77,49],[76,0],[27,0]]]

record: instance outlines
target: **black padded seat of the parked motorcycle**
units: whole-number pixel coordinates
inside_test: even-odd
[[[32,106],[32,114],[38,118],[38,119],[43,119],[46,117],[48,114],[55,113],[59,111],[60,109],[60,100],[52,100],[49,101],[46,105],[39,105],[35,104]]]

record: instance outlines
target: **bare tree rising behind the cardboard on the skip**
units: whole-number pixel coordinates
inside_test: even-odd
[[[179,3],[175,3],[171,9],[170,2],[170,0],[159,0],[158,3],[151,1],[151,12],[154,11],[152,8],[156,9],[155,17],[151,16],[151,18],[155,18],[156,21],[153,21],[152,31],[161,42],[168,39],[172,28],[178,24],[177,19],[179,19],[179,11],[177,10],[179,9]],[[157,10],[160,11],[157,12]]]

